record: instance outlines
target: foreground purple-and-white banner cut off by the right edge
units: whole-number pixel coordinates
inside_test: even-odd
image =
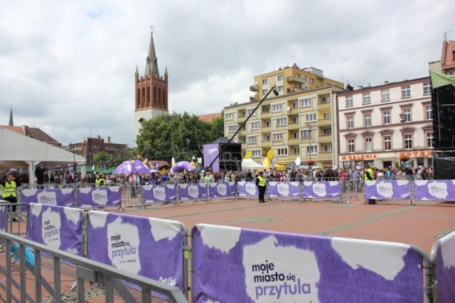
[[[455,298],[455,232],[440,238],[432,247],[432,263],[436,265],[438,302],[453,302]]]

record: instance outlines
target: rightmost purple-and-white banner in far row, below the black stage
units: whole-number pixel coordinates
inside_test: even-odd
[[[415,180],[414,200],[455,200],[455,180]]]

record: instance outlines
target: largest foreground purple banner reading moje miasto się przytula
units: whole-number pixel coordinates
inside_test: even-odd
[[[403,243],[197,224],[193,302],[423,302],[422,256]]]

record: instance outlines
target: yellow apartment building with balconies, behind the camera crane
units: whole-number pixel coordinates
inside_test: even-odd
[[[275,86],[278,96],[269,94],[262,101]],[[255,77],[250,90],[255,92],[250,102],[224,108],[225,136],[231,138],[238,131],[233,141],[241,143],[242,155],[251,152],[259,162],[272,150],[277,163],[287,167],[297,157],[301,165],[338,165],[334,100],[343,83],[323,77],[314,67],[300,69],[294,64]]]

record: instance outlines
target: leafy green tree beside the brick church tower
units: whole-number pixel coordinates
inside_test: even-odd
[[[136,138],[135,154],[149,160],[176,162],[200,157],[198,145],[213,142],[223,136],[223,119],[200,121],[196,115],[173,114],[144,121]],[[137,157],[136,156],[136,157]]]

